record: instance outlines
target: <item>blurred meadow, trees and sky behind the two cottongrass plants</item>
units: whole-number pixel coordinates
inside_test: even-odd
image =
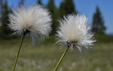
[[[70,49],[58,71],[113,71],[113,0],[0,0],[0,71],[12,70],[21,40],[7,27],[8,15],[12,9],[32,4],[50,11],[52,31],[35,46],[27,39],[23,42],[16,71],[54,70],[65,50],[65,46],[55,45],[58,20],[69,14],[85,14],[97,41],[83,53]]]

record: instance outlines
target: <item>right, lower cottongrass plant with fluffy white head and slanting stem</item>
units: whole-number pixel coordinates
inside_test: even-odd
[[[60,44],[66,45],[67,48],[57,63],[54,71],[59,67],[62,59],[69,48],[77,47],[81,52],[83,49],[88,49],[95,42],[93,35],[88,27],[87,17],[85,15],[68,15],[60,20],[60,27],[56,36]]]

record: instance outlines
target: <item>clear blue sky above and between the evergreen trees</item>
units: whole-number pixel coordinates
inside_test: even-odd
[[[8,5],[16,8],[20,0],[8,0]],[[49,0],[42,0],[44,5],[47,5]],[[54,0],[57,8],[63,0]],[[79,14],[85,14],[88,17],[89,24],[92,23],[93,14],[96,12],[96,7],[100,8],[104,24],[107,27],[106,33],[113,34],[113,0],[73,0],[75,8]],[[30,6],[36,4],[37,0],[25,0],[25,5]]]

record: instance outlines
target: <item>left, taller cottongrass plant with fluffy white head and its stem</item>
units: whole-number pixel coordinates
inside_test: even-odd
[[[9,20],[9,27],[14,31],[14,34],[22,36],[13,67],[13,71],[15,71],[16,63],[25,36],[31,37],[33,44],[36,40],[40,41],[47,37],[51,31],[51,16],[48,10],[42,6],[31,5],[29,7],[21,6],[16,10],[13,10],[13,14],[9,14]]]

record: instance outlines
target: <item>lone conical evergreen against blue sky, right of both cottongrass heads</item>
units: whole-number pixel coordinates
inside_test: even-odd
[[[104,26],[103,17],[99,8],[96,8],[96,13],[93,15],[92,32],[96,34],[105,34],[106,27]]]

